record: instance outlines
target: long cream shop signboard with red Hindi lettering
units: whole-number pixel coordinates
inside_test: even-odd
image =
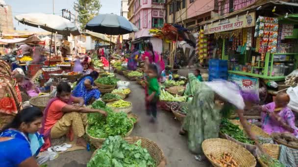
[[[223,32],[253,26],[255,26],[255,12],[249,12],[248,14],[209,23],[204,26],[204,34],[213,34],[216,32]]]

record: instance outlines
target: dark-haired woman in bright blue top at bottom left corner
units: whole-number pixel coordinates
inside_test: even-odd
[[[34,156],[43,143],[33,144],[32,137],[40,129],[42,118],[39,108],[25,108],[1,129],[0,167],[39,167]]]

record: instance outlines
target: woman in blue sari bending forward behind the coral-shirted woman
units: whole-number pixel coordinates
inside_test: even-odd
[[[100,97],[100,91],[97,86],[94,86],[94,81],[99,77],[99,73],[92,71],[90,74],[83,76],[77,81],[73,90],[74,97],[82,97],[85,105],[92,104]]]

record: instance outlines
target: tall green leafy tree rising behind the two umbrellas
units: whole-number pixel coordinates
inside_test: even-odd
[[[78,10],[78,22],[81,30],[85,29],[88,21],[99,14],[101,4],[99,0],[77,0],[75,10]]]

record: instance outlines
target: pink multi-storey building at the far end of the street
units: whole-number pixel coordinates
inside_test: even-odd
[[[149,40],[152,41],[153,49],[161,53],[162,40],[153,38],[149,34],[149,30],[163,27],[166,15],[164,0],[129,0],[128,4],[128,20],[139,28],[139,31],[134,33],[133,39],[149,37]]]

